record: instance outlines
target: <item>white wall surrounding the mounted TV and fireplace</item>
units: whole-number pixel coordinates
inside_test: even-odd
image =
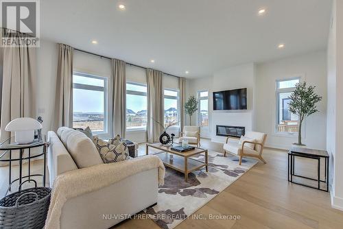
[[[216,125],[244,126],[246,130],[252,130],[254,110],[254,78],[255,64],[241,64],[229,67],[213,73],[209,77],[189,80],[187,98],[189,95],[197,96],[198,91],[209,91],[209,127],[202,127],[201,135],[211,138],[212,141],[224,142],[225,137],[215,136]],[[213,92],[235,88],[248,89],[247,110],[215,110],[213,111]],[[192,125],[198,125],[198,115],[192,117]],[[189,123],[189,116],[186,117]]]

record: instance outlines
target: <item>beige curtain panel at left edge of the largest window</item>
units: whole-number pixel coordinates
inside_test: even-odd
[[[73,126],[73,48],[58,44],[56,97],[52,130]]]

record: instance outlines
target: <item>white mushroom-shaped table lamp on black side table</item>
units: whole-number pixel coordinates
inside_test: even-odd
[[[36,119],[19,118],[10,121],[10,123],[6,125],[5,130],[14,132],[16,143],[26,144],[34,141],[34,130],[42,128],[42,124]]]

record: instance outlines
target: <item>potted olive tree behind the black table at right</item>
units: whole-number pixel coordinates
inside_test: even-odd
[[[303,145],[301,142],[301,127],[305,117],[312,115],[317,110],[318,101],[322,100],[322,97],[317,95],[314,91],[316,86],[306,86],[306,82],[296,84],[296,89],[289,95],[289,111],[295,115],[298,115],[299,120],[299,132],[298,143],[294,145]]]

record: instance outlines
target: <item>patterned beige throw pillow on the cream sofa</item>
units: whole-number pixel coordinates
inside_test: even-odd
[[[97,151],[99,152],[102,161],[106,164],[130,159],[128,147],[125,143],[111,145],[110,142],[106,142],[97,137],[93,139],[93,142],[97,147]]]

